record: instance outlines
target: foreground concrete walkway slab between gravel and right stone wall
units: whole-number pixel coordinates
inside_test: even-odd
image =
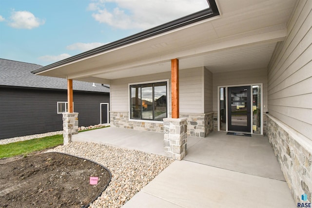
[[[293,208],[286,182],[175,161],[123,208]]]

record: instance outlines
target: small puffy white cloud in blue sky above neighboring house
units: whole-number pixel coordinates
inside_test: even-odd
[[[44,20],[28,11],[13,11],[9,22],[9,26],[20,29],[33,29],[41,24],[44,24]]]

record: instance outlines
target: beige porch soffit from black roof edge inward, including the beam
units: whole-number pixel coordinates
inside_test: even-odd
[[[166,63],[172,58],[201,56],[232,47],[281,41],[286,36],[286,22],[293,2],[295,0],[274,3],[269,0],[253,3],[250,0],[218,0],[222,17],[202,20],[83,58],[42,75],[81,79],[110,74],[108,77],[114,78],[113,74],[121,70],[126,72]],[[242,7],[244,4],[247,6]]]

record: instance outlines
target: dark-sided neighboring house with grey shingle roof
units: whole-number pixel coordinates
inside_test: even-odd
[[[31,73],[40,67],[0,58],[0,139],[63,129],[61,112],[67,108],[67,81]],[[74,83],[79,126],[108,123],[109,88]]]

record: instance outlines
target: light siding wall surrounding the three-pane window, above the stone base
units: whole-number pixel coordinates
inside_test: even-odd
[[[183,69],[179,71],[179,101],[180,113],[204,113],[203,100],[203,67]],[[111,82],[111,111],[129,111],[129,83],[153,82],[156,80],[169,80],[169,112],[171,112],[171,73],[157,73],[146,76],[136,76],[122,79],[115,79]]]

